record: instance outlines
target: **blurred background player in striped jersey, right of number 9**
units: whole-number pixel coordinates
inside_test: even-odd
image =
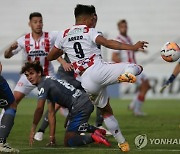
[[[128,24],[126,20],[120,20],[117,24],[119,35],[117,36],[116,40],[121,43],[131,44],[131,38],[128,36]],[[132,50],[113,50],[112,60],[116,63],[120,62],[128,62],[136,64],[136,57],[135,52]],[[144,73],[141,73],[137,77],[137,85],[138,91],[136,96],[129,104],[129,109],[133,111],[135,116],[143,116],[145,115],[142,112],[142,104],[144,104],[146,94],[150,89],[150,84],[147,76]]]

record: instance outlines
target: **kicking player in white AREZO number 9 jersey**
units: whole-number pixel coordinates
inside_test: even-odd
[[[135,75],[141,73],[142,67],[136,64],[106,63],[96,44],[117,50],[138,50],[144,49],[146,42],[127,45],[104,38],[94,28],[89,28],[92,27],[94,19],[93,7],[81,4],[76,6],[75,25],[59,33],[48,60],[57,59],[64,52],[68,54],[77,79],[81,81],[94,104],[101,109],[106,127],[117,140],[120,149],[129,151],[129,144],[125,141],[109,104],[106,87],[122,81],[135,82]]]

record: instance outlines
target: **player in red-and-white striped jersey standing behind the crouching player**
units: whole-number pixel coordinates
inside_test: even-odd
[[[29,26],[32,33],[25,34],[13,43],[4,53],[5,58],[11,58],[22,51],[24,62],[40,61],[43,66],[44,74],[54,76],[54,68],[51,62],[47,60],[50,49],[58,32],[43,32],[43,18],[39,12],[31,13],[29,16]],[[14,89],[14,97],[18,104],[25,95],[28,95],[35,88],[26,78],[21,75]]]

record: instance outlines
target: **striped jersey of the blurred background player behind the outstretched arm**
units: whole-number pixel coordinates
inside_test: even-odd
[[[121,43],[133,45],[129,36],[125,37],[125,36],[119,34],[118,37],[116,38],[116,40]],[[129,63],[136,64],[136,58],[135,58],[134,51],[132,51],[132,50],[114,50],[113,52],[119,53],[121,62],[129,62]]]

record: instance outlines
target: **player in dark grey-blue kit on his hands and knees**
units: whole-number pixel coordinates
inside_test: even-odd
[[[74,88],[73,85],[64,80],[43,76],[43,69],[39,62],[26,63],[22,68],[22,73],[24,73],[27,79],[33,85],[36,85],[39,90],[39,100],[34,113],[29,138],[30,145],[33,143],[37,124],[42,117],[45,101],[48,100],[48,120],[50,126],[49,145],[55,144],[55,103],[57,103],[69,110],[68,124],[64,138],[65,146],[81,146],[93,142],[110,146],[110,143],[104,137],[106,131],[97,129],[87,123],[94,106],[84,91]],[[81,136],[81,132],[89,132],[91,134]]]

